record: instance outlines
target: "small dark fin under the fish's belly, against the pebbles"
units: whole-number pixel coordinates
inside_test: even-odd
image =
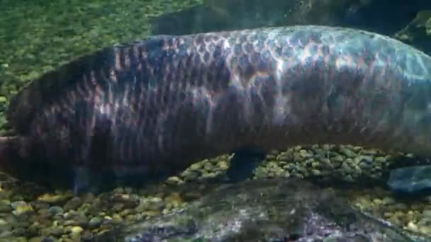
[[[264,161],[266,153],[254,147],[241,147],[233,151],[230,167],[225,174],[227,182],[238,182],[251,178],[254,169]]]

